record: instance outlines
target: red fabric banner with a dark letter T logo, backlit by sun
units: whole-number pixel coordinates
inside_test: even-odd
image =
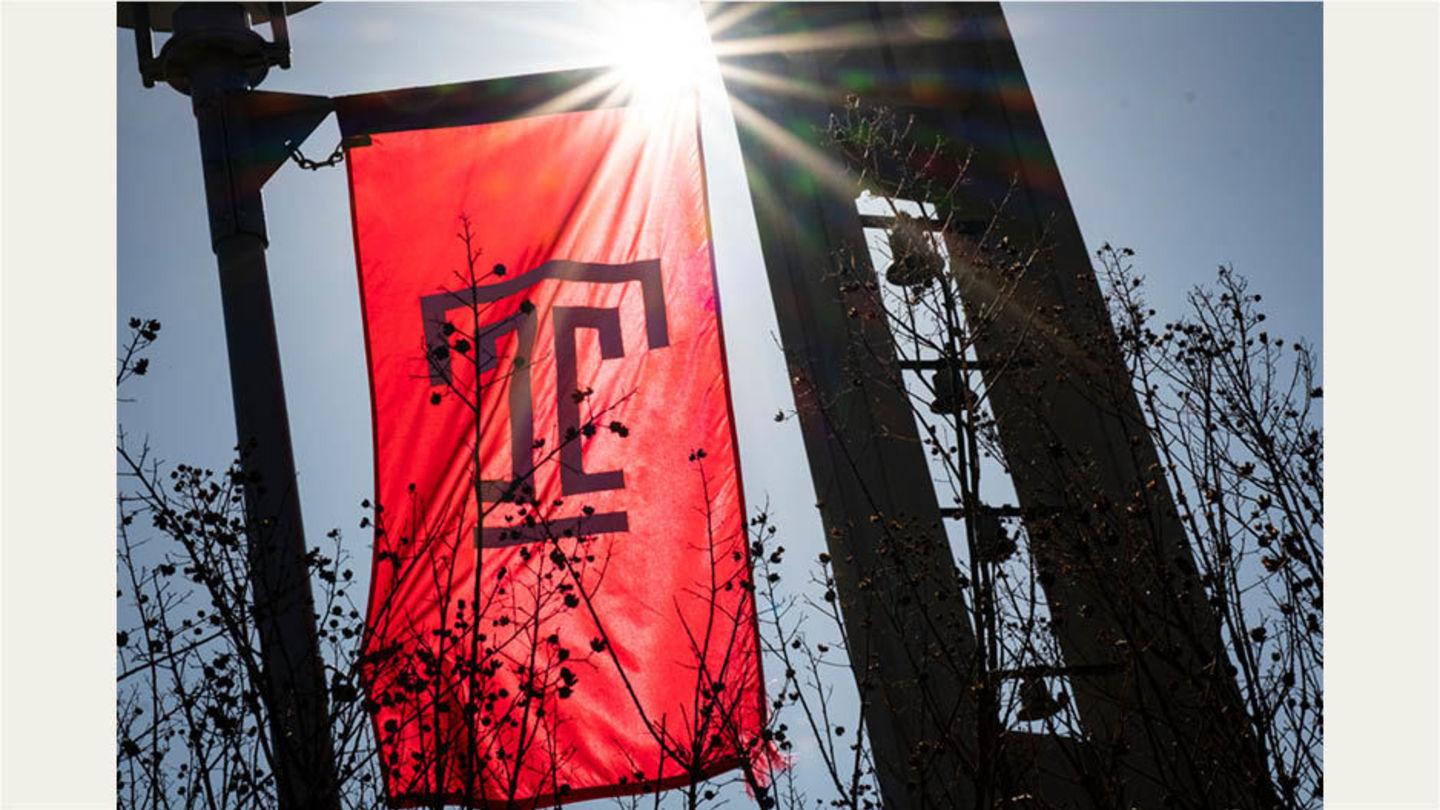
[[[338,99],[392,806],[638,793],[763,754],[697,108],[528,105],[575,84]]]

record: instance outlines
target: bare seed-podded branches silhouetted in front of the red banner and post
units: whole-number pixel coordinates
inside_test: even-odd
[[[465,218],[459,238],[467,258],[459,281],[474,290],[482,281],[480,251]],[[497,265],[490,275],[504,272]],[[563,801],[570,793],[564,765],[576,755],[560,747],[554,734],[566,722],[566,705],[585,700],[585,682],[598,670],[618,672],[629,683],[596,607],[609,546],[586,533],[583,519],[577,526],[553,523],[550,516],[560,503],[541,502],[534,481],[537,471],[560,463],[567,444],[596,431],[628,437],[629,427],[613,418],[613,411],[629,395],[596,405],[589,389],[569,392],[585,408],[582,421],[563,431],[559,444],[543,448],[528,473],[505,481],[503,493],[481,491],[484,389],[528,369],[516,359],[514,369],[481,378],[477,369],[495,359],[480,359],[488,304],[475,297],[459,303],[468,308],[469,320],[461,319],[468,326],[448,323],[439,330],[441,343],[426,346],[420,359],[431,369],[444,362],[454,370],[431,395],[431,404],[454,398],[474,418],[474,490],[439,509],[423,503],[413,484],[408,503],[390,509],[369,499],[360,503],[370,513],[360,528],[384,539],[384,551],[374,558],[384,584],[369,615],[351,601],[353,552],[338,530],[328,535],[331,548],[314,548],[307,556],[318,594],[315,620],[330,686],[340,794],[348,807],[383,804],[383,784],[395,796],[433,807],[464,803],[469,796],[505,807],[534,806],[537,794]],[[521,311],[533,314],[534,308]],[[144,373],[143,352],[160,324],[135,321],[131,329],[118,383]],[[122,615],[134,617],[122,620],[117,636],[121,804],[272,807],[274,758],[265,729],[274,709],[253,686],[262,682],[264,666],[255,617],[266,605],[256,604],[251,587],[248,529],[256,517],[245,513],[245,454],[217,476],[184,464],[167,470],[148,445],[132,447],[124,430],[117,451],[122,585],[117,597],[127,602]],[[694,448],[690,468],[708,491],[706,458],[704,448]],[[696,506],[708,513],[708,496]],[[593,513],[583,504],[577,509]],[[265,520],[258,520],[262,530],[255,542],[265,542]],[[516,540],[523,533],[524,540],[516,545],[518,562],[482,568],[481,526],[514,533]],[[639,712],[660,752],[660,773],[635,765],[622,784],[688,777],[684,781],[690,784],[674,793],[685,807],[716,800],[716,785],[744,784],[766,804],[769,735],[750,738],[743,722],[743,715],[753,712],[753,695],[724,687],[744,682],[744,667],[753,666],[742,643],[752,630],[752,614],[720,607],[721,594],[730,595],[724,600],[729,605],[736,598],[740,605],[753,602],[746,538],[711,529],[707,536],[677,542],[696,545],[710,561],[706,587],[675,595],[677,611],[680,601],[690,600],[706,617],[703,626],[685,624],[688,649],[674,650],[678,659],[691,660],[696,693],[680,715],[649,715],[647,711],[655,708],[641,705],[634,692],[632,705],[609,708]],[[420,600],[428,608],[402,613],[399,600]],[[588,624],[595,633],[562,636],[556,626],[566,624],[560,621],[566,615],[582,617],[569,623],[572,628]],[[393,643],[366,643],[376,637]],[[396,745],[402,741],[405,745]],[[400,761],[397,751],[409,752],[410,760]],[[717,775],[717,765],[737,751],[746,760],[740,773]],[[762,768],[752,767],[752,760]]]

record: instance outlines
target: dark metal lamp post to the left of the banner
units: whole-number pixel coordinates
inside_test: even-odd
[[[314,3],[291,3],[291,10]],[[269,711],[272,767],[284,810],[338,810],[334,744],[295,490],[279,343],[265,267],[261,186],[330,112],[330,99],[258,92],[289,66],[285,3],[122,3],[141,81],[190,95],[200,134],[210,246],[220,271],[230,393],[240,463],[255,621],[258,689]],[[268,19],[274,42],[251,30]],[[151,30],[173,30],[158,56]]]

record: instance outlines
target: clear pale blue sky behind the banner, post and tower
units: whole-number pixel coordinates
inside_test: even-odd
[[[1274,331],[1320,342],[1320,13],[1315,4],[1005,4],[1041,120],[1092,249],[1138,251],[1162,316],[1233,262]],[[291,23],[294,68],[262,89],[341,95],[603,63],[600,6],[323,4]],[[213,255],[187,99],[141,88],[117,35],[117,316],[164,323],[151,373],[120,405],[170,461],[220,468],[233,445]],[[747,499],[769,500],[814,559],[812,509],[772,334],[733,121],[710,92],[703,137]],[[334,121],[307,141],[324,157]],[[271,284],[307,535],[356,526],[372,487],[370,408],[343,169],[266,186]],[[796,579],[801,577],[796,575]]]

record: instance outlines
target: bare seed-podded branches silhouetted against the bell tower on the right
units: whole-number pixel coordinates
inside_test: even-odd
[[[837,275],[847,301],[863,301],[850,307],[850,317],[881,319],[888,333],[883,333],[888,344],[868,344],[847,372],[857,380],[878,375],[883,383],[907,395],[920,441],[932,457],[936,493],[942,504],[953,499],[950,513],[962,519],[955,559],[963,627],[956,627],[952,597],[916,587],[927,579],[906,566],[907,559],[919,556],[903,553],[906,543],[923,542],[926,528],[907,528],[883,515],[878,502],[874,504],[874,519],[893,523],[886,545],[901,552],[886,558],[894,569],[888,578],[880,571],[867,572],[871,587],[888,589],[881,604],[888,600],[919,610],[927,623],[972,640],[958,644],[953,657],[936,656],[936,664],[973,685],[973,713],[936,718],[949,724],[920,747],[962,752],[963,777],[973,788],[963,797],[966,806],[1048,806],[1017,778],[1027,764],[1037,770],[1032,758],[1047,745],[1044,739],[1084,777],[1067,788],[1064,806],[1113,807],[1123,801],[1139,777],[1129,773],[1123,749],[1080,722],[1068,695],[1073,679],[1115,673],[1066,664],[1060,617],[1051,615],[1045,598],[1057,575],[1083,577],[1080,571],[1099,569],[1086,549],[1112,546],[1128,549],[1123,559],[1135,579],[1102,585],[1103,604],[1068,610],[1079,607],[1081,618],[1090,611],[1109,611],[1123,633],[1115,638],[1120,662],[1140,662],[1129,650],[1143,649],[1172,672],[1189,672],[1197,682],[1211,683],[1201,690],[1211,698],[1195,716],[1228,724],[1230,731],[1218,736],[1236,749],[1205,748],[1205,762],[1169,765],[1158,777],[1169,796],[1166,801],[1220,806],[1207,791],[1189,787],[1228,770],[1224,778],[1234,780],[1240,785],[1236,790],[1248,791],[1247,801],[1254,806],[1318,806],[1323,447],[1310,406],[1320,389],[1313,380],[1309,347],[1266,330],[1266,316],[1257,308],[1260,297],[1230,268],[1221,268],[1214,287],[1191,293],[1191,311],[1159,326],[1129,265],[1132,251],[1102,248],[1096,258],[1107,297],[1100,307],[1107,303],[1109,311],[1090,313],[1094,333],[1071,346],[1070,356],[1057,366],[1061,378],[1084,378],[1086,395],[1100,408],[1130,414],[1138,401],[1136,428],[1148,432],[1161,455],[1159,464],[1138,463],[1149,473],[1146,481],[1136,481],[1133,500],[1109,503],[1086,480],[1093,458],[1051,464],[1017,458],[1014,453],[1007,457],[999,435],[1001,408],[1024,411],[1032,430],[1056,430],[1040,388],[1031,396],[1011,395],[1005,404],[992,392],[998,383],[1030,391],[1024,372],[1038,365],[1035,353],[1053,352],[1061,342],[1074,343],[1057,319],[1027,294],[1027,285],[1048,272],[1047,246],[1017,244],[1004,235],[1008,195],[975,200],[965,174],[969,160],[956,154],[955,144],[922,143],[907,121],[858,99],[831,121],[828,143],[854,172],[857,196],[871,193],[890,209],[884,244],[871,245],[877,261],[840,252],[825,270]],[[960,170],[933,172],[937,163]],[[988,213],[976,218],[976,210]],[[1112,368],[1112,357],[1123,357],[1128,373],[1093,370]],[[809,406],[821,418],[832,418],[827,402]],[[981,479],[1008,477],[1014,464],[1054,471],[1054,490],[1064,497],[1050,513],[984,503]],[[1178,512],[1172,517],[1184,523],[1194,561],[1158,553],[1162,543],[1153,533],[1159,529],[1146,516],[1151,509],[1166,507],[1166,491],[1174,493]],[[1067,548],[1054,539],[1060,535],[1080,540]],[[844,634],[828,555],[821,555],[821,562],[816,581],[825,601],[814,602],[812,613],[818,607],[829,614]],[[1178,605],[1192,605],[1198,598],[1214,611],[1220,649],[1210,638],[1184,634],[1168,637],[1165,643],[1172,647],[1158,647],[1156,637],[1148,636],[1156,621],[1148,613],[1153,608],[1146,607],[1155,589],[1171,591]],[[838,796],[834,801],[847,807],[874,801],[873,788],[855,790],[851,784],[860,780],[847,784],[842,778],[845,773],[873,773],[864,745],[854,748],[857,755],[848,770],[832,755],[835,734],[827,715],[835,706],[827,703],[828,686],[814,664],[834,643],[805,644],[804,633],[782,624],[782,611],[770,615],[776,617],[768,628],[772,647],[786,662],[782,698],[821,739],[821,758]],[[848,647],[864,643],[854,636],[841,638]],[[1140,679],[1165,677],[1145,670],[1143,663],[1120,666]],[[806,667],[815,676],[798,679],[796,673]],[[867,675],[854,673],[861,700],[871,699]],[[912,686],[920,692],[935,689],[926,682]],[[1240,695],[1231,699],[1237,686]],[[1164,683],[1151,687],[1164,689]],[[1109,711],[1129,716],[1125,722],[1140,734],[1161,739],[1198,734],[1191,716],[1164,715],[1130,692],[1110,695]],[[927,705],[940,702],[937,695]],[[1233,716],[1233,706],[1240,706],[1244,716]],[[1250,752],[1263,758],[1266,773],[1246,770],[1259,761]],[[912,767],[916,761],[912,757]]]

